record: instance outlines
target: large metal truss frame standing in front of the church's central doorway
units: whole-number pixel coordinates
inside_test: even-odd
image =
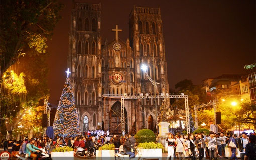
[[[186,129],[187,133],[190,133],[190,122],[189,122],[189,105],[188,105],[188,95],[109,95],[104,94],[103,98],[116,98],[121,99],[121,126],[122,126],[122,134],[125,132],[125,114],[124,114],[124,99],[176,99],[176,98],[184,98],[185,100],[185,111],[186,111]]]

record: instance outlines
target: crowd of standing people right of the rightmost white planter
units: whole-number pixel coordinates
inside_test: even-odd
[[[188,134],[188,135],[173,135],[168,134],[166,139],[168,150],[168,157],[179,160],[191,158],[199,160],[209,157],[210,159],[217,159],[218,157],[225,157],[225,148],[231,150],[228,158],[237,159],[237,150],[240,152],[241,160],[256,159],[256,135],[247,135],[246,132],[237,137],[236,134],[223,132],[215,134],[210,132],[205,135],[204,132]]]

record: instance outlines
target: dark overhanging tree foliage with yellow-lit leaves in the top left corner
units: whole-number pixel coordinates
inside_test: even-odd
[[[1,68],[6,71],[29,48],[45,52],[59,21],[63,5],[58,0],[2,0],[0,4]],[[27,54],[27,53],[26,53]],[[2,73],[3,74],[3,73]],[[1,74],[1,75],[2,75]]]

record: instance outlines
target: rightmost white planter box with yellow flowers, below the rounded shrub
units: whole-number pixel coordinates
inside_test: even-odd
[[[141,157],[159,157],[162,158],[163,145],[154,142],[139,143],[138,148],[140,150]]]

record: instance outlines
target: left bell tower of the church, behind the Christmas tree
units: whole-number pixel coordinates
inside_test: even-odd
[[[68,66],[81,130],[86,131],[97,127],[94,113],[101,105],[101,5],[74,2],[70,28]]]

